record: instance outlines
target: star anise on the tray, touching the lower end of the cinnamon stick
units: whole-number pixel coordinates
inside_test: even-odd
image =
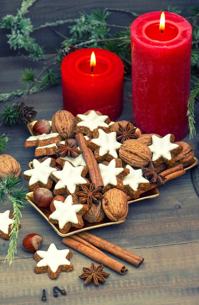
[[[82,185],[81,186],[82,191],[77,192],[78,196],[81,196],[82,198],[80,199],[79,203],[83,204],[86,203],[91,206],[91,204],[94,203],[99,203],[97,198],[102,198],[103,195],[99,193],[101,190],[101,187],[94,188],[93,184],[91,183],[89,188],[86,186]]]

